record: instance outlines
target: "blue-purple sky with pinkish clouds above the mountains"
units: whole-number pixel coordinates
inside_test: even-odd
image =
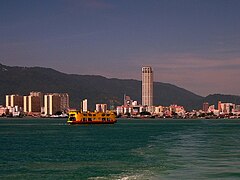
[[[240,95],[240,1],[0,0],[0,63]]]

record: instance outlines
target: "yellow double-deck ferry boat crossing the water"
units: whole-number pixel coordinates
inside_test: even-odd
[[[81,112],[70,111],[68,124],[114,124],[117,122],[113,112]]]

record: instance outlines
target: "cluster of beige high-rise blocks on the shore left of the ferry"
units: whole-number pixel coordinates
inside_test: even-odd
[[[30,92],[29,95],[6,95],[6,106],[0,107],[0,115],[51,116],[69,110],[67,93]]]

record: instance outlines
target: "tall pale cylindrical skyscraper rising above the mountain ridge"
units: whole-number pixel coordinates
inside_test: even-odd
[[[142,67],[142,105],[153,106],[153,70],[150,66]]]

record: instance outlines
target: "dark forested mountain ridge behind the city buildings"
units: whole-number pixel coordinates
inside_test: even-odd
[[[141,73],[139,73],[141,75]],[[141,102],[141,81],[105,78],[95,75],[65,74],[43,67],[10,67],[0,64],[0,104],[5,104],[6,94],[28,95],[30,91],[68,93],[70,106],[79,108],[87,98],[90,109],[96,103],[117,106],[123,104],[123,95]],[[154,82],[154,105],[178,104],[187,110],[201,109],[203,102],[240,104],[240,96],[209,95],[202,97],[172,84]]]

